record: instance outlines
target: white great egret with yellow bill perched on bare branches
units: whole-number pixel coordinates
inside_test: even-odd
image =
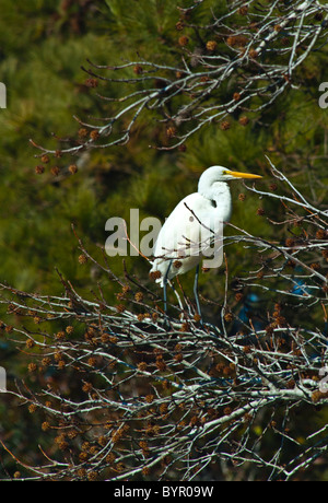
[[[261,178],[250,173],[233,172],[223,166],[211,166],[199,178],[198,191],[185,197],[173,210],[161,229],[152,261],[151,276],[164,291],[166,312],[166,284],[177,274],[196,267],[194,293],[198,301],[199,264],[215,250],[214,267],[222,264],[222,230],[232,213],[232,198],[226,182],[239,178]],[[213,266],[211,266],[213,267]]]

